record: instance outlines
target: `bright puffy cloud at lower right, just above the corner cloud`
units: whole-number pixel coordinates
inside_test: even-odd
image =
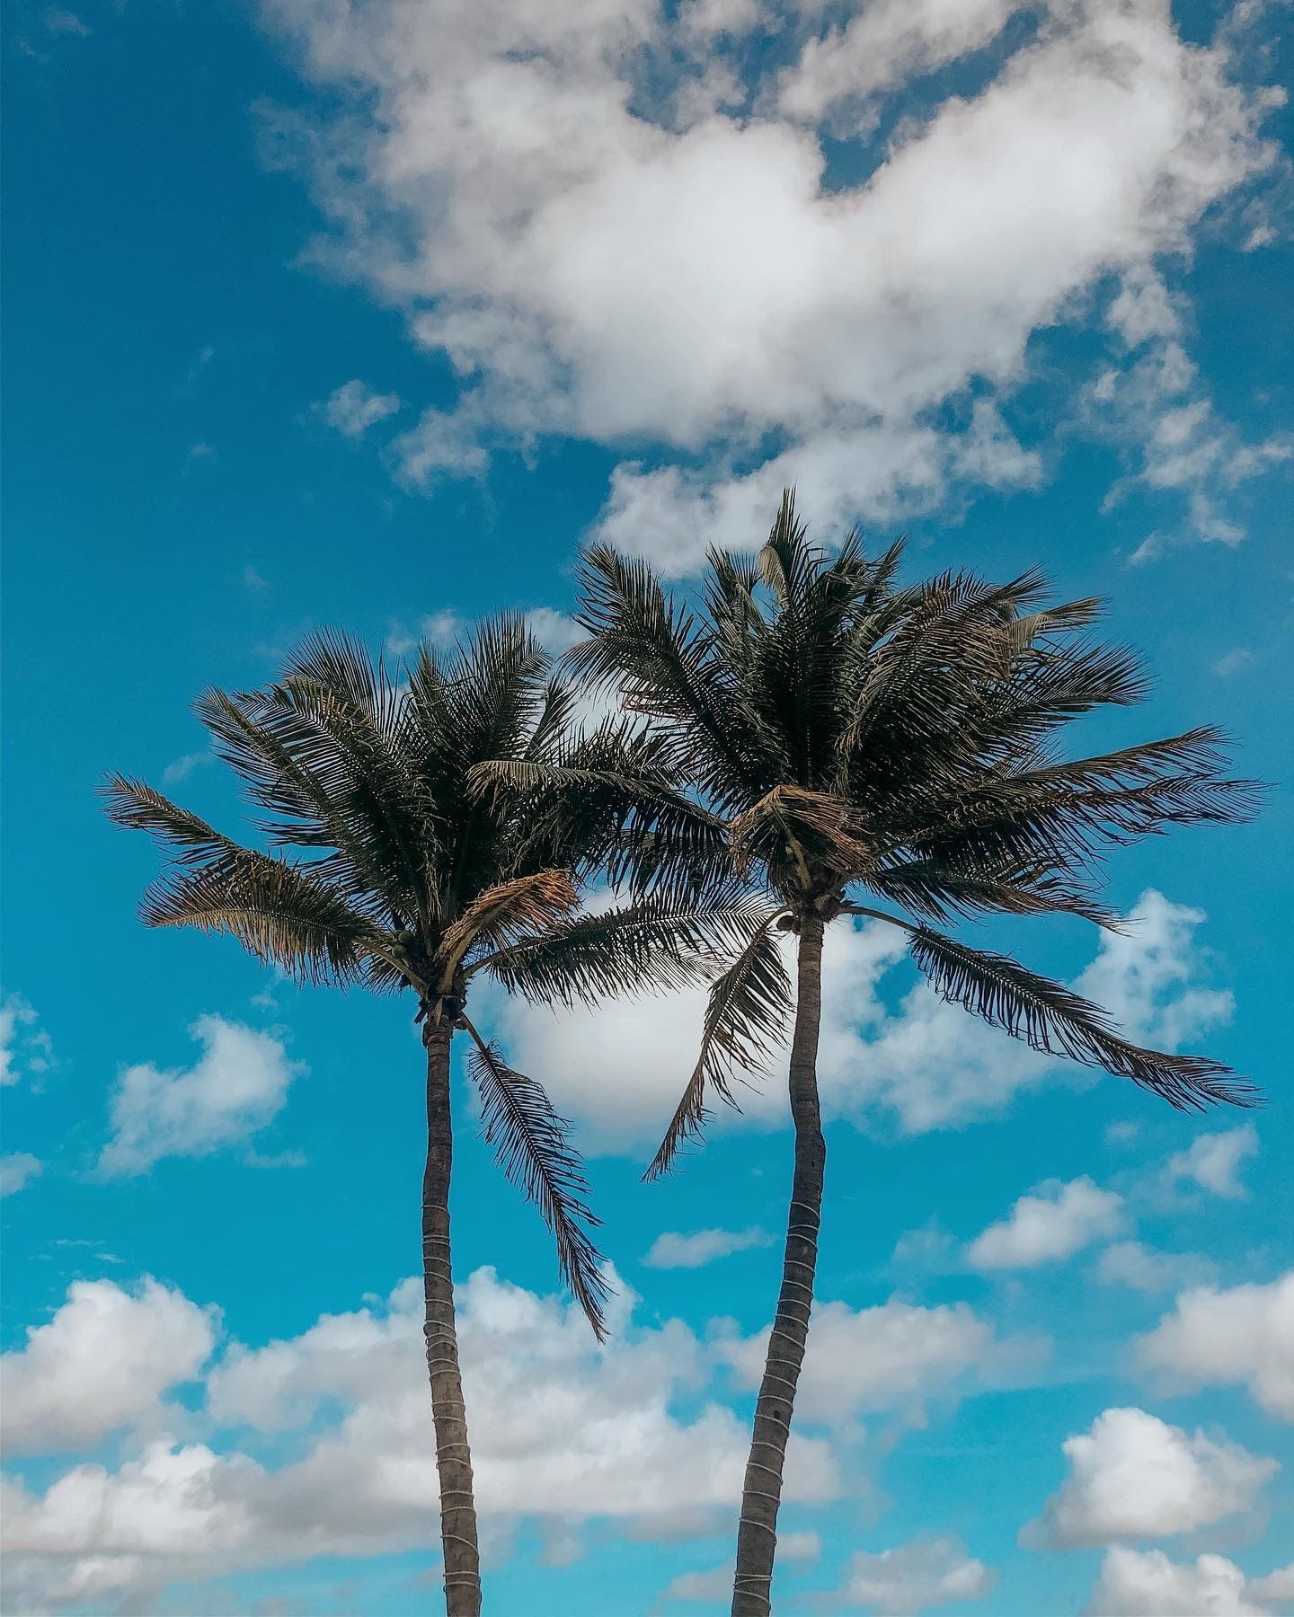
[[[1194,1436],[1139,1408],[1110,1408],[1066,1438],[1069,1476],[1024,1541],[1051,1546],[1165,1538],[1252,1510],[1276,1460]]]

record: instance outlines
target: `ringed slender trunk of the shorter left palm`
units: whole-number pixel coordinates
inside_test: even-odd
[[[440,1475],[440,1538],[445,1547],[448,1617],[480,1612],[480,1556],[476,1541],[472,1450],[458,1370],[453,1269],[450,1264],[450,1040],[448,1020],[422,1025],[427,1046],[427,1169],[422,1176],[422,1290],[427,1300],[422,1334],[432,1383],[435,1463]]]

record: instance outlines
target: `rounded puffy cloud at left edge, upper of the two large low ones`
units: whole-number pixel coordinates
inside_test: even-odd
[[[154,1279],[133,1292],[73,1282],[50,1323],[3,1355],[5,1452],[58,1454],[125,1426],[155,1428],[163,1394],[192,1381],[214,1344],[210,1311]]]

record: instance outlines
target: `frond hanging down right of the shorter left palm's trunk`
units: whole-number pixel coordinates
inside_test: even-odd
[[[589,1235],[589,1227],[602,1221],[586,1200],[589,1182],[571,1146],[569,1124],[540,1083],[513,1070],[498,1046],[484,1040],[471,1022],[467,1032],[476,1045],[469,1066],[480,1093],[485,1143],[495,1146],[503,1172],[539,1208],[556,1242],[561,1274],[602,1342],[610,1286]]]

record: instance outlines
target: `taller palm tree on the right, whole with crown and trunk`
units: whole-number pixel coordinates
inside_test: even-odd
[[[696,787],[687,836],[666,828],[623,851],[637,888],[699,893],[736,876],[762,899],[712,986],[699,1061],[647,1177],[700,1134],[712,1095],[733,1101],[734,1075],[763,1066],[794,1019],[794,1176],[734,1617],[772,1609],[827,1159],[817,1045],[828,925],[869,917],[899,928],[945,999],[1173,1106],[1255,1100],[1216,1061],[1140,1049],[1064,985],[937,930],[992,914],[1116,927],[1097,897],[1103,852],[1173,825],[1242,820],[1255,787],[1223,778],[1213,729],[1061,760],[1051,742],[1066,723],[1147,689],[1132,655],[1082,634],[1098,603],[1047,606],[1037,572],[1003,585],[945,572],[904,589],[899,555],[894,545],[869,559],[857,534],[825,555],[788,493],[757,559],[710,551],[704,598],[687,608],[645,563],[598,547],[584,563],[581,623],[592,639],[569,653],[668,737],[670,768]],[[784,931],[797,938],[794,988]]]

